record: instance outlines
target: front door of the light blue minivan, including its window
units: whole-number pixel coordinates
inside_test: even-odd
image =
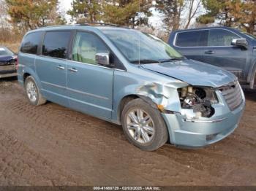
[[[113,69],[95,61],[98,52],[110,52],[98,36],[78,31],[67,63],[69,106],[80,112],[111,118]]]

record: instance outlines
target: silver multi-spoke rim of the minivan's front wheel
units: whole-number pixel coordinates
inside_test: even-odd
[[[132,138],[143,144],[151,141],[155,133],[154,122],[143,109],[133,109],[129,112],[127,128]]]

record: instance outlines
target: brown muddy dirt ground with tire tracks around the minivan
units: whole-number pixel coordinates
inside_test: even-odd
[[[0,185],[256,185],[256,93],[236,131],[203,149],[143,152],[121,127],[57,104],[30,106],[0,80]]]

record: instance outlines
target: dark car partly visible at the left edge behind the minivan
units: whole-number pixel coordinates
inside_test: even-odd
[[[0,47],[0,78],[15,77],[17,55],[7,47]]]

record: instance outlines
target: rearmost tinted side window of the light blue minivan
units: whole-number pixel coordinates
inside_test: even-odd
[[[42,32],[34,32],[26,35],[21,44],[20,52],[36,55],[41,40]]]

